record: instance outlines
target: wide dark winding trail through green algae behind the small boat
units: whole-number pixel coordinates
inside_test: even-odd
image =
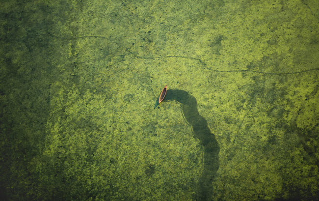
[[[166,101],[177,101],[181,104],[185,120],[192,126],[194,137],[199,139],[204,148],[204,171],[199,178],[199,188],[195,200],[210,200],[213,193],[213,179],[219,167],[219,145],[207,126],[207,121],[197,110],[194,96],[184,90],[167,90]]]

